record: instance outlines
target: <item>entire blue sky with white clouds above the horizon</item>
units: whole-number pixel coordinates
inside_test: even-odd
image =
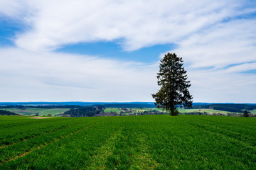
[[[0,102],[151,102],[167,52],[193,102],[256,103],[254,0],[0,0]]]

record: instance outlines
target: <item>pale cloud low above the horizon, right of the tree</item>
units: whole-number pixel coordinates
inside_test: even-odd
[[[255,74],[188,70],[193,101],[215,103],[255,103]]]

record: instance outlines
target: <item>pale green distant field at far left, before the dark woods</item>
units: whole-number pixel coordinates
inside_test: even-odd
[[[18,108],[4,108],[3,110],[11,111],[11,112],[14,112],[17,114],[22,114],[22,115],[33,115],[33,114],[55,115],[55,114],[59,114],[59,113],[68,111],[69,108],[26,108],[25,110],[18,109]]]

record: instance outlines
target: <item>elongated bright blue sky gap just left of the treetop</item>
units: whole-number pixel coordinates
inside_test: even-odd
[[[87,42],[75,45],[65,45],[55,52],[65,52],[80,55],[95,55],[102,58],[122,60],[127,62],[142,62],[144,64],[158,62],[164,52],[174,50],[176,45],[164,44],[142,47],[138,50],[126,51],[119,41]]]

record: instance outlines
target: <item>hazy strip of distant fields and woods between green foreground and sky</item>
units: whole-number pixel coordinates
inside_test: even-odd
[[[96,109],[97,107],[100,109]],[[97,113],[88,113],[88,108]],[[156,108],[154,102],[130,103],[93,103],[93,102],[34,102],[34,103],[0,103],[0,110],[10,111],[18,115],[37,116],[68,116],[71,111],[79,111],[75,117],[117,116],[117,115],[162,115],[169,114],[161,108]],[[81,110],[81,111],[80,111]],[[188,115],[233,115],[242,116],[243,111],[256,116],[256,104],[235,103],[193,103],[193,108],[178,108],[180,114]],[[2,114],[4,115],[4,113]]]

